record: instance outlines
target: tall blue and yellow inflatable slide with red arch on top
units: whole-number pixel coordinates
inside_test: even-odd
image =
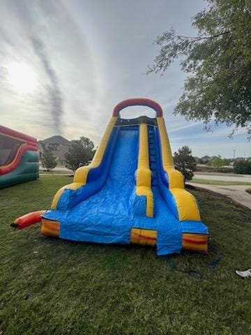
[[[151,107],[156,117],[122,119],[120,111],[132,105]],[[46,236],[156,246],[158,255],[208,252],[197,201],[174,170],[162,109],[149,99],[116,105],[91,165],[77,169],[73,183],[57,191],[52,209],[33,215]],[[15,227],[31,224],[27,218]]]

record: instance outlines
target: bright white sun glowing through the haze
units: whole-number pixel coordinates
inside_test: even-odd
[[[37,87],[36,75],[32,68],[25,64],[10,64],[7,67],[8,80],[15,91],[32,93]]]

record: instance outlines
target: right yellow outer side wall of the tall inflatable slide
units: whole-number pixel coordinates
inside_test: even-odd
[[[157,117],[157,122],[160,132],[163,168],[168,175],[169,191],[172,193],[176,201],[178,219],[180,221],[201,221],[195,197],[188,191],[185,191],[183,174],[174,169],[174,160],[172,158],[165,121],[162,117]]]

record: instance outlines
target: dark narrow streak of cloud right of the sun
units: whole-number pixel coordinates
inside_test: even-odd
[[[59,89],[59,80],[45,52],[45,45],[38,36],[30,37],[33,50],[43,65],[50,84],[47,85],[47,95],[50,103],[50,112],[54,123],[54,131],[61,133],[61,120],[63,116],[63,94]]]

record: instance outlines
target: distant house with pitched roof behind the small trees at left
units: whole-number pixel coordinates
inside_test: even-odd
[[[38,151],[41,154],[45,151],[45,149],[50,149],[54,156],[56,156],[56,160],[59,164],[65,163],[65,154],[70,148],[71,142],[66,140],[66,138],[55,135],[47,138],[43,141],[38,141]]]

